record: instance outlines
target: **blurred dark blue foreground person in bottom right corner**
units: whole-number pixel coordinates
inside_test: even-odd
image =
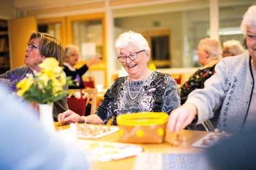
[[[205,151],[196,169],[241,170],[255,169],[256,133],[254,128],[221,141]]]

